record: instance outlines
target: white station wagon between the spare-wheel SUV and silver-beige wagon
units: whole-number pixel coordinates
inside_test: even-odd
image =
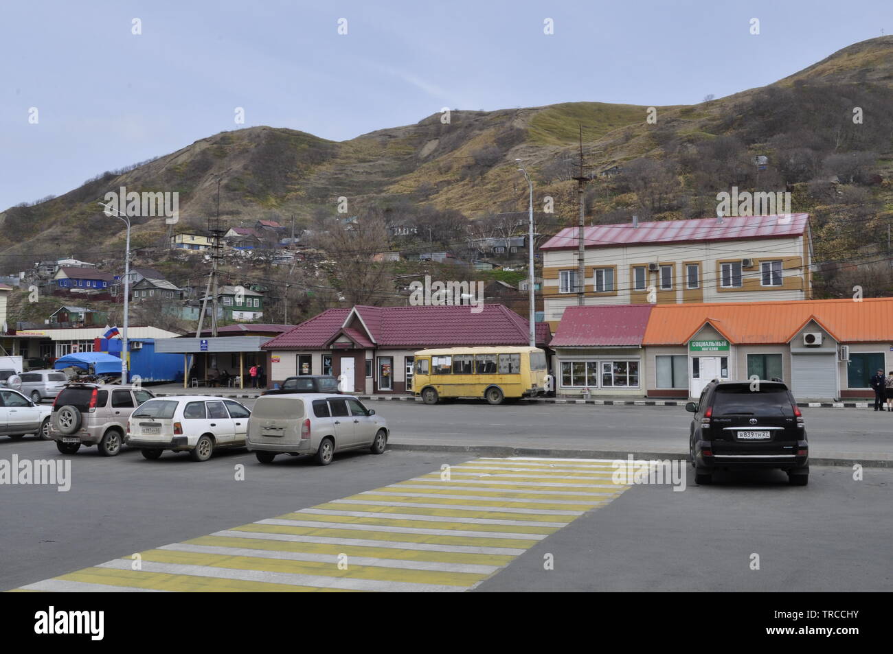
[[[174,395],[150,400],[133,412],[125,443],[146,459],[163,451],[188,451],[206,461],[221,447],[243,447],[251,411],[238,402],[213,395]]]

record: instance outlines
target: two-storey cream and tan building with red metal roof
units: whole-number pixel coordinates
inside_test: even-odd
[[[584,228],[585,278],[577,279],[578,228],[540,248],[546,319],[577,304],[756,302],[812,297],[809,216],[634,221]]]

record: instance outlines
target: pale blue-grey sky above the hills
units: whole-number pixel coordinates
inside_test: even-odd
[[[222,130],[699,103],[893,33],[890,0],[0,3],[0,211]]]

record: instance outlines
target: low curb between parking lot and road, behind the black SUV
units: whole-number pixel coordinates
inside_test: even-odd
[[[684,452],[662,451],[604,451],[604,450],[561,450],[557,448],[511,447],[508,445],[444,445],[437,443],[390,443],[389,450],[401,451],[455,451],[480,456],[495,457],[554,457],[556,459],[627,459],[630,454],[635,459],[688,459]],[[893,468],[893,459],[840,459],[832,457],[810,457],[811,466],[835,466],[851,468],[855,464],[863,468]]]

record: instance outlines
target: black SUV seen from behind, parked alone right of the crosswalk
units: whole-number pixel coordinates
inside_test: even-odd
[[[808,483],[803,414],[782,382],[714,379],[685,410],[695,414],[689,456],[697,484],[709,484],[714,470],[729,468],[780,468],[791,485]]]

